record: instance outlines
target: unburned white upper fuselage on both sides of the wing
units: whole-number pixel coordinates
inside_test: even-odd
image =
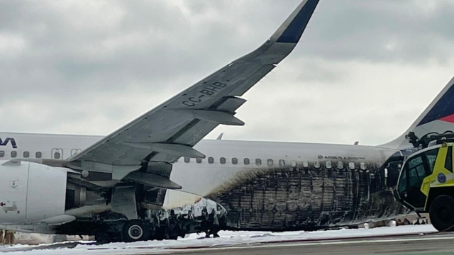
[[[0,132],[0,160],[7,159],[67,159],[103,138],[95,135],[51,135]],[[195,147],[205,159],[189,162],[180,158],[173,164],[170,179],[182,186],[182,191],[207,196],[218,186],[231,181],[242,171],[273,166],[299,166],[314,162],[338,162],[345,168],[349,163],[383,164],[397,149],[361,145],[330,145],[299,142],[256,142],[201,140]],[[212,158],[212,161],[211,159]],[[225,159],[225,162],[224,162]]]

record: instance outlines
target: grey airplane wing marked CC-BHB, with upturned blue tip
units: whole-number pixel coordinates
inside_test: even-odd
[[[168,177],[168,164],[179,157],[204,158],[192,147],[219,124],[244,125],[235,117],[237,108],[245,103],[239,96],[292,52],[318,3],[302,1],[257,50],[70,157],[70,167],[111,173],[112,178],[122,179],[141,165],[155,162],[148,172]]]

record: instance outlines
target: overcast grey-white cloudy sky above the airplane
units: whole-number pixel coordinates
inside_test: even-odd
[[[0,130],[108,135],[272,35],[299,0],[0,1]],[[377,145],[454,75],[454,1],[321,0],[228,140]]]

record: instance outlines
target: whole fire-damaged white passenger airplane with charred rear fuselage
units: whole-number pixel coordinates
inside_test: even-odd
[[[202,140],[244,125],[240,96],[292,52],[318,3],[302,1],[257,50],[106,137],[0,132],[0,228],[135,242],[408,214],[391,189],[417,141],[452,129],[454,79],[385,145]]]

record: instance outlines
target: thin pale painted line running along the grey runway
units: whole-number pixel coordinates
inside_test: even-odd
[[[454,237],[419,237],[419,238],[402,238],[402,239],[376,239],[376,240],[354,240],[354,241],[335,241],[335,242],[310,242],[310,243],[285,243],[285,244],[252,244],[244,246],[223,246],[223,247],[216,247],[212,246],[210,248],[199,248],[199,249],[168,249],[167,251],[161,251],[161,253],[176,253],[176,252],[184,252],[187,253],[189,251],[221,251],[221,250],[228,250],[228,249],[255,249],[258,247],[288,247],[288,246],[316,246],[316,245],[331,245],[331,244],[367,244],[367,243],[393,243],[393,242],[418,242],[418,241],[430,241],[430,240],[450,240],[454,239]],[[222,245],[222,244],[220,244]]]

